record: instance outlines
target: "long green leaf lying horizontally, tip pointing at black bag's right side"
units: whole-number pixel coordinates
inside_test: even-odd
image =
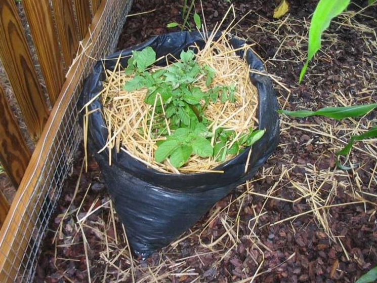
[[[344,107],[325,107],[317,111],[311,110],[278,110],[279,113],[286,114],[292,117],[304,118],[308,116],[320,115],[329,118],[341,120],[344,118],[362,116],[377,107],[377,103],[353,105]]]

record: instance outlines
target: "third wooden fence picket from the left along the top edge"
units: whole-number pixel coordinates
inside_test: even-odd
[[[64,66],[69,68],[78,48],[78,34],[74,23],[72,3],[69,0],[52,0],[52,4],[63,51]]]

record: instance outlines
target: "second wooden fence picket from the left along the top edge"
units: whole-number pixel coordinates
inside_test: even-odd
[[[22,5],[33,36],[40,68],[45,77],[50,102],[54,105],[65,76],[49,0],[23,0]]]

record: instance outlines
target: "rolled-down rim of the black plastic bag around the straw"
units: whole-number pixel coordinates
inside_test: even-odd
[[[215,37],[218,38],[220,34]],[[115,52],[114,54],[97,61],[93,72],[87,77],[83,86],[80,98],[80,109],[100,91],[102,91],[102,81],[104,80],[104,68],[113,69],[114,64],[120,59],[122,67],[127,66],[127,61],[132,55],[133,50],[142,50],[147,46],[152,47],[157,53],[156,58],[162,57],[162,53],[158,47],[165,46],[167,51],[165,55],[177,54],[181,50],[187,50],[193,44],[202,47],[204,42],[199,32],[172,32],[151,37],[148,41],[135,47]],[[232,37],[230,43],[233,48],[241,47],[245,44],[243,39]],[[173,45],[173,46],[172,46]],[[265,69],[262,61],[258,55],[252,50],[247,49],[245,56],[246,62],[250,65],[250,70],[257,70],[259,73],[264,73]],[[236,51],[236,54],[243,57],[243,51]],[[156,62],[156,65],[163,65],[161,61]],[[111,68],[112,67],[112,68]],[[277,113],[278,103],[275,91],[272,86],[271,79],[266,75],[250,72],[250,81],[257,87],[258,90],[258,119],[259,129],[266,129],[264,136],[257,141],[252,148],[252,153],[249,158],[248,170],[246,173],[234,174],[239,172],[240,168],[245,168],[249,147],[245,148],[241,153],[227,160],[225,163],[217,166],[213,170],[221,170],[224,173],[193,173],[193,174],[171,174],[163,173],[152,168],[129,155],[127,152],[120,150],[118,153],[113,148],[112,165],[120,170],[124,170],[135,177],[154,184],[156,187],[168,191],[196,193],[216,189],[220,186],[227,186],[239,184],[252,178],[259,167],[261,167],[268,157],[273,153],[279,142],[279,118]],[[272,105],[271,105],[272,104]],[[91,141],[90,149],[93,152],[98,152],[105,144],[108,135],[108,129],[102,115],[102,103],[99,98],[95,99],[88,110],[101,109],[101,111],[94,111],[88,116],[88,140]],[[82,114],[82,113],[81,113]],[[108,149],[101,153],[95,153],[95,158],[107,159],[109,158]],[[235,176],[236,175],[236,176]]]

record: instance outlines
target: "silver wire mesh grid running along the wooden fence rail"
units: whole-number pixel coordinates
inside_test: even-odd
[[[28,214],[28,217],[18,215],[18,217],[21,216],[22,218],[21,225],[18,229],[22,229],[22,231],[27,230],[27,233],[24,233],[20,241],[18,241],[16,236],[12,239],[12,241],[17,241],[17,245],[13,246],[17,247],[17,249],[12,249],[10,253],[16,256],[13,262],[7,259],[7,261],[9,261],[7,262],[9,268],[8,270],[3,270],[11,280],[17,282],[31,282],[35,275],[41,242],[43,241],[51,215],[55,210],[57,200],[61,194],[64,179],[69,173],[74,152],[82,138],[82,130],[79,126],[77,100],[82,89],[83,80],[88,76],[95,63],[95,61],[89,57],[100,58],[104,54],[114,50],[131,4],[132,0],[106,1],[103,14],[98,21],[98,23],[103,21],[104,24],[99,25],[98,37],[94,42],[92,41],[90,43],[93,45],[90,54],[87,54],[88,57],[86,57],[85,60],[80,61],[80,67],[82,67],[81,71],[77,71],[76,69],[73,76],[79,76],[79,83],[74,88],[67,107],[60,109],[60,111],[64,111],[63,122],[60,124],[58,133],[54,137],[53,142],[46,144],[46,140],[44,141],[43,148],[48,147],[49,153],[46,162],[44,164],[38,162],[37,164],[39,166],[34,169],[34,173],[40,171],[38,181],[35,185],[28,184],[34,188],[32,194],[28,195],[26,204],[20,204],[21,201],[18,200],[18,205],[26,207],[26,213]],[[64,95],[70,94],[65,93]],[[50,132],[50,130],[51,129],[49,129],[48,132]],[[20,214],[20,212],[16,210],[12,215],[12,219],[16,217],[17,213]],[[28,221],[25,219],[28,219]],[[7,234],[8,233],[16,235],[16,231],[11,231],[9,226],[7,227]],[[25,236],[25,234],[31,236],[28,237]],[[3,239],[0,245],[12,245],[12,242],[6,242],[6,240]],[[22,258],[18,257],[20,250],[22,250],[23,253]],[[21,264],[17,264],[16,262],[21,262]],[[17,278],[11,275],[15,271]]]

